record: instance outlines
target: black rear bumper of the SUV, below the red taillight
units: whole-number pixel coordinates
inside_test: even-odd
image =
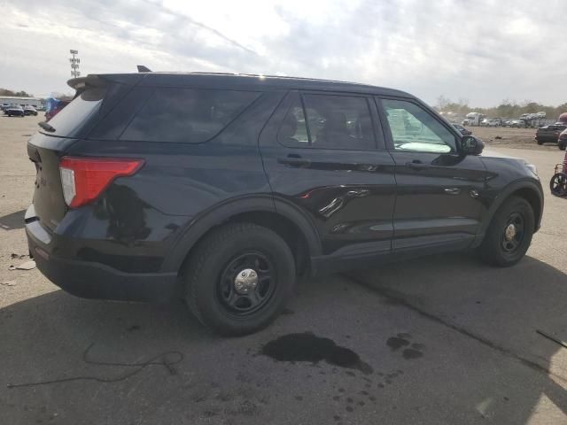
[[[176,273],[125,273],[104,264],[62,259],[52,254],[51,236],[26,213],[30,255],[37,268],[59,288],[82,298],[167,302],[179,297]]]

